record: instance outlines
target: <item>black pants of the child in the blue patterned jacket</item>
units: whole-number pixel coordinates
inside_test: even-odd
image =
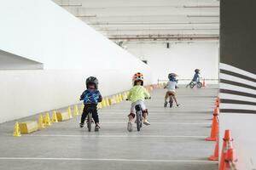
[[[85,104],[84,105],[84,111],[83,111],[83,115],[81,117],[81,123],[84,123],[84,121],[85,121],[86,117],[88,116],[89,112],[91,112],[94,122],[98,123],[99,122],[99,116],[98,116],[97,105],[96,104]]]

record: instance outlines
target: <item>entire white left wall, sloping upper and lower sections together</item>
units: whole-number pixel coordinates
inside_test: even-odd
[[[102,95],[131,88],[148,65],[50,0],[0,0],[0,49],[44,64],[44,71],[0,71],[0,122],[79,102],[86,77]]]

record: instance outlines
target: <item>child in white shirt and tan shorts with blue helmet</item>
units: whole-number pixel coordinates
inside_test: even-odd
[[[167,106],[167,99],[170,98],[170,107],[172,107],[172,98],[174,99],[175,103],[177,106],[179,106],[179,104],[177,104],[177,98],[176,98],[176,93],[175,93],[175,89],[177,88],[177,79],[176,79],[177,75],[175,73],[170,73],[168,75],[169,78],[169,82],[167,82],[166,87],[168,88],[167,92],[166,92],[166,96],[165,96],[165,104],[164,107]]]

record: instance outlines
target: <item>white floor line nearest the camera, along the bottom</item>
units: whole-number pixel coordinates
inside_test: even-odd
[[[149,162],[212,162],[207,160],[155,160],[155,159],[108,159],[108,158],[71,158],[71,157],[0,157],[0,160],[41,160],[41,161],[149,161]]]

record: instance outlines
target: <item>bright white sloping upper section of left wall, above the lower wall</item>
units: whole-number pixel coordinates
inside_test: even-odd
[[[113,65],[121,69],[123,65],[116,65],[120,58],[131,67],[137,62],[50,0],[0,3],[0,49],[44,63],[44,69],[84,69],[91,63],[102,69]]]

